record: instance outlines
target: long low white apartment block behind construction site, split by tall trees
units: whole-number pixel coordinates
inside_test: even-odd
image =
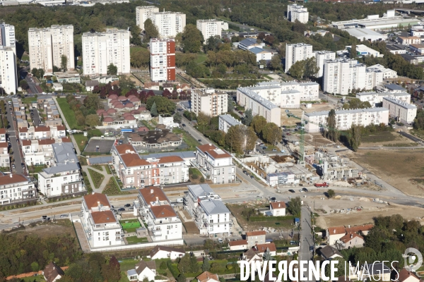
[[[329,111],[306,113],[305,130],[307,133],[317,133],[326,128]],[[352,124],[367,126],[370,124],[389,124],[389,110],[386,108],[350,109],[336,111],[336,128],[348,130]]]

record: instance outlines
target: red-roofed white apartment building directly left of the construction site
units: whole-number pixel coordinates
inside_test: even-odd
[[[235,181],[235,165],[228,152],[211,144],[200,145],[196,149],[196,164],[206,171],[213,184]]]

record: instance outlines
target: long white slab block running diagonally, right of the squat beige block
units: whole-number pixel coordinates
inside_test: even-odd
[[[245,109],[252,109],[254,116],[263,116],[267,122],[281,125],[281,109],[249,88],[237,88],[237,103]]]

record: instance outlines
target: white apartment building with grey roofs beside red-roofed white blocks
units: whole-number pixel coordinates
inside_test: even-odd
[[[184,209],[194,218],[201,235],[230,235],[232,216],[219,195],[208,184],[188,185]]]

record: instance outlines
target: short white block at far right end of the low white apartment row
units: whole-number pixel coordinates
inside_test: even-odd
[[[394,97],[384,97],[383,107],[389,109],[389,116],[401,123],[411,124],[417,116],[417,106],[401,102]]]

